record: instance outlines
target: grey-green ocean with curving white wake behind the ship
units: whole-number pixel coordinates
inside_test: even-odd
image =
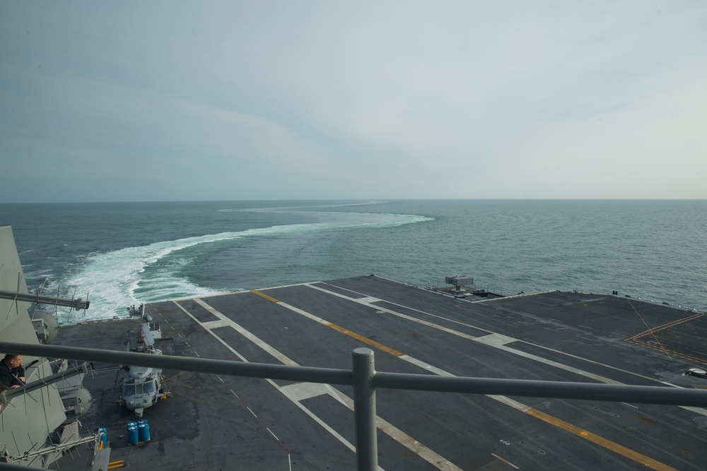
[[[2,204],[30,291],[86,313],[374,273],[474,277],[502,294],[580,290],[707,309],[707,201],[218,201]]]

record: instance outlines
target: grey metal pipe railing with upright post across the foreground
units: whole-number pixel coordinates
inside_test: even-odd
[[[375,371],[373,350],[366,347],[354,350],[352,369],[246,363],[231,360],[148,355],[92,348],[32,345],[14,342],[0,342],[0,352],[12,352],[35,357],[74,359],[86,362],[152,366],[153,368],[169,368],[229,376],[353,386],[356,467],[359,471],[378,470],[378,445],[375,426],[375,390],[377,388],[707,407],[707,390],[701,389],[431,376],[427,374]],[[13,395],[19,393],[21,389],[13,390]]]

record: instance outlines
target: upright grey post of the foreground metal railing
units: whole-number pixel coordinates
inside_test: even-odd
[[[378,441],[375,429],[375,389],[373,350],[354,350],[354,418],[356,422],[356,469],[378,470]]]

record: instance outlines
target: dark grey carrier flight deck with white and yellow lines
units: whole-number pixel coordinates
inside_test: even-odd
[[[263,297],[264,294],[267,297]],[[547,292],[469,302],[374,276],[147,306],[165,354],[489,378],[707,386],[703,313],[607,294]],[[225,317],[224,317],[225,316]],[[315,320],[318,318],[318,320]],[[59,345],[123,350],[136,320],[62,328]],[[654,329],[649,332],[649,328]],[[163,371],[172,397],[128,446],[115,404],[123,371],[96,365],[88,427],[111,461],[145,470],[351,470],[351,388]],[[105,370],[102,370],[106,368]],[[707,412],[689,407],[377,391],[384,470],[701,470]],[[86,447],[55,469],[84,470]]]

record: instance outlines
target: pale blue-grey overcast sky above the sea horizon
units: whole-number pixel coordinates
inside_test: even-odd
[[[707,198],[707,2],[4,1],[0,203]]]

